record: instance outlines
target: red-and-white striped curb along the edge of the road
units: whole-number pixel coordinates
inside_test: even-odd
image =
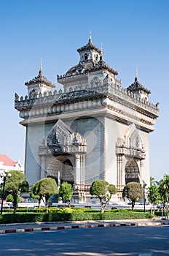
[[[71,226],[54,226],[54,227],[28,227],[28,228],[16,228],[9,230],[0,230],[0,234],[7,233],[25,233],[25,232],[37,232],[37,231],[49,231],[49,230],[67,230],[77,228],[93,228],[93,227],[131,227],[131,226],[159,226],[168,225],[165,222],[142,222],[142,223],[111,223],[111,224],[87,224],[87,225],[71,225]]]

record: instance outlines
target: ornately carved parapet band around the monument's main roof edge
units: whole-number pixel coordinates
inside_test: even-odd
[[[99,83],[100,80],[99,78],[95,77],[94,81],[95,83]],[[142,113],[144,115],[144,118],[146,118],[146,116],[149,116],[150,120],[146,121],[146,124],[152,125],[153,120],[157,118],[157,116],[159,116],[159,104],[152,105],[152,103],[140,99],[139,97],[134,97],[133,94],[131,94],[129,91],[122,89],[122,87],[119,86],[117,82],[111,84],[110,83],[111,81],[106,83],[104,86],[98,86],[93,89],[91,89],[91,85],[88,84],[88,89],[86,90],[69,91],[66,93],[63,93],[63,91],[60,90],[58,94],[50,93],[50,96],[44,94],[44,96],[38,98],[29,97],[23,100],[23,97],[21,97],[20,101],[18,100],[18,95],[15,94],[15,108],[19,111],[25,111],[31,109],[34,105],[36,105],[37,107],[39,105],[39,108],[42,108],[42,105],[45,104],[60,105],[65,104],[64,102],[69,102],[71,104],[74,99],[91,99],[91,97],[93,97],[94,99],[95,97],[98,98],[108,96],[113,102],[117,102],[120,105],[125,105],[127,108],[131,108],[137,112]],[[110,105],[109,108],[113,107]],[[125,115],[128,116],[127,113],[125,113]],[[133,116],[132,118],[135,118],[135,116]]]

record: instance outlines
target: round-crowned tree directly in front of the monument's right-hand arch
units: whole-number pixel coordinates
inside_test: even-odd
[[[122,197],[127,197],[127,199],[131,202],[132,211],[134,209],[135,202],[137,202],[138,199],[143,198],[143,196],[143,188],[138,182],[127,183],[122,191]]]

